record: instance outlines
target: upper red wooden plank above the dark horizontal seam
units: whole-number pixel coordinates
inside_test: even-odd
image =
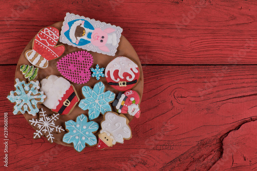
[[[123,28],[142,64],[257,64],[257,2],[110,0],[3,2],[1,64],[16,64],[40,29],[72,12]]]

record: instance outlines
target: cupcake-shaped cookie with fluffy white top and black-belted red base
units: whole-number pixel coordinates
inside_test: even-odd
[[[40,83],[40,90],[44,91],[47,97],[43,104],[54,112],[68,115],[79,102],[74,87],[62,77],[49,75]]]

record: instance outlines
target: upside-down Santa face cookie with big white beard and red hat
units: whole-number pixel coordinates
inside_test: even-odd
[[[118,143],[123,143],[124,139],[131,139],[131,128],[128,126],[128,119],[124,115],[114,112],[106,112],[104,120],[101,122],[102,129],[98,135],[98,149],[112,147]]]

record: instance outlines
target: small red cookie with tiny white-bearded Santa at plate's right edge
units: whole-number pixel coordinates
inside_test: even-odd
[[[119,92],[117,99],[113,102],[113,106],[116,106],[117,112],[128,113],[136,118],[140,117],[140,109],[138,103],[140,97],[134,90],[127,90],[123,94]]]

